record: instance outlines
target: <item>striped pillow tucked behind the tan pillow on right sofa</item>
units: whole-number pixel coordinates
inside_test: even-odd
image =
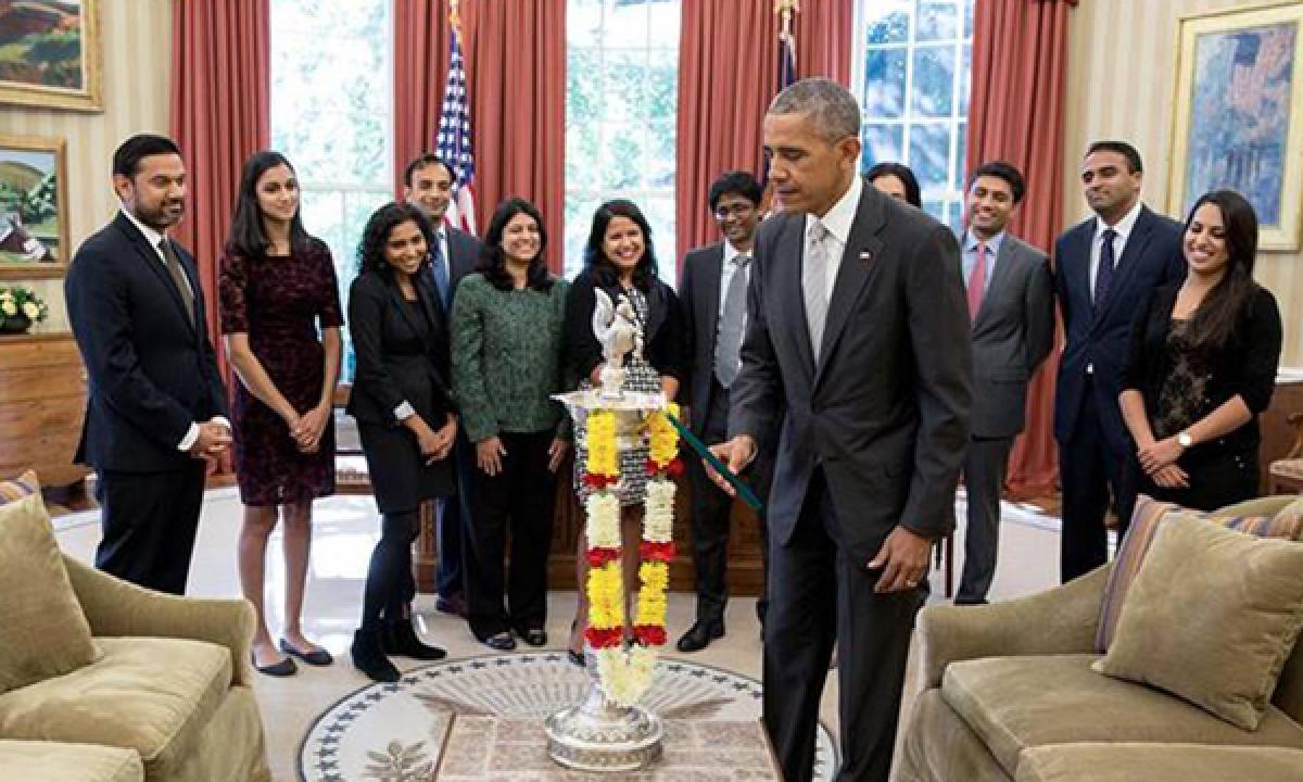
[[[1298,511],[1289,512],[1295,506]],[[1183,508],[1171,502],[1158,502],[1141,494],[1136,498],[1131,525],[1127,528],[1122,545],[1118,546],[1118,557],[1113,563],[1109,584],[1104,588],[1104,600],[1100,603],[1100,628],[1095,633],[1095,650],[1100,654],[1108,652],[1113,643],[1113,636],[1118,630],[1118,615],[1122,613],[1122,603],[1126,602],[1127,590],[1131,589],[1131,583],[1140,572],[1153,536],[1158,532],[1158,525],[1167,514],[1203,519],[1209,524],[1256,537],[1296,540],[1299,532],[1303,530],[1303,502],[1295,502],[1273,516],[1214,516]]]

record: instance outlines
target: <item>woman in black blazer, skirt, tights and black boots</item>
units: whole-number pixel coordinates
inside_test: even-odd
[[[348,293],[357,369],[348,413],[358,434],[375,504],[383,515],[353,636],[353,665],[397,682],[388,654],[439,659],[412,626],[412,542],[421,503],[453,493],[448,454],[457,418],[447,378],[448,332],[423,274],[433,229],[412,205],[388,203],[367,220],[361,270]]]

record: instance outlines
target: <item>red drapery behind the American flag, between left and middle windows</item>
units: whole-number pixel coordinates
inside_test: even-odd
[[[395,172],[431,150],[448,72],[447,0],[395,4]],[[461,3],[476,155],[476,218],[504,198],[533,201],[560,271],[566,207],[566,4]]]

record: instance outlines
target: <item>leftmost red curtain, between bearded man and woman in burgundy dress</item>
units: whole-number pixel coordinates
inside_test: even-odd
[[[189,185],[176,239],[194,253],[208,334],[231,387],[218,323],[218,254],[227,241],[245,158],[271,143],[270,0],[172,7],[172,138]]]

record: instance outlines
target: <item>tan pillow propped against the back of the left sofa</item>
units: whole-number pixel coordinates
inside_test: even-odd
[[[0,693],[94,659],[40,493],[0,504]]]

